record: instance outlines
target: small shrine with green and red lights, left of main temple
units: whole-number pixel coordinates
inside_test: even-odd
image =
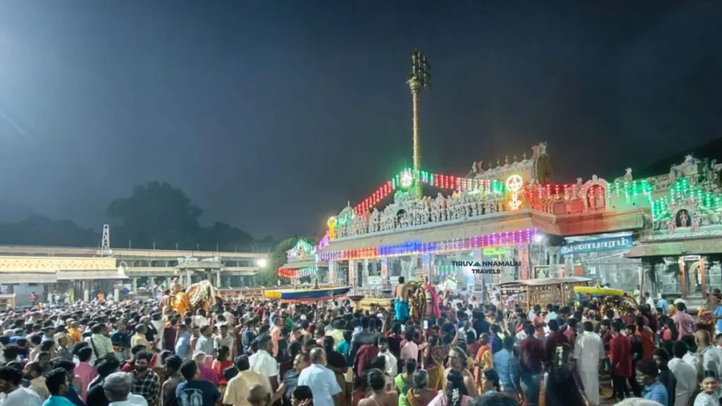
[[[299,238],[296,245],[286,251],[286,261],[278,269],[278,275],[290,279],[292,283],[329,282],[328,264],[318,260],[316,246],[303,238]]]

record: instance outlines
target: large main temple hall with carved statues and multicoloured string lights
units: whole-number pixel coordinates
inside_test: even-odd
[[[560,184],[552,177],[545,143],[521,160],[474,163],[466,176],[402,170],[329,219],[317,259],[328,264],[331,282],[369,290],[388,288],[400,276],[470,290],[590,271],[611,279],[602,268],[575,266],[588,253],[597,264],[623,262],[636,270],[640,261],[623,254],[651,225],[648,183],[631,172],[611,183],[592,176]],[[418,183],[427,195],[417,194]],[[609,238],[626,240],[615,246]],[[565,251],[582,241],[592,241],[583,243],[591,248]],[[600,253],[609,246],[620,252],[607,261]]]

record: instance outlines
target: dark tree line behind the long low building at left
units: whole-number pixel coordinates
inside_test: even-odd
[[[256,240],[226,223],[203,227],[199,223],[202,214],[181,189],[168,183],[136,186],[130,196],[108,206],[110,244],[113,248],[240,252],[269,252],[277,245],[271,237]],[[87,230],[69,220],[27,217],[17,223],[0,223],[0,244],[97,248],[100,227]]]

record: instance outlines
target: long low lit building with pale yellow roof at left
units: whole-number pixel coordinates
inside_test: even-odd
[[[255,252],[0,246],[0,293],[16,295],[25,306],[33,292],[43,298],[59,290],[87,299],[98,290],[118,295],[126,288],[168,287],[173,279],[251,287],[267,262],[268,254]]]

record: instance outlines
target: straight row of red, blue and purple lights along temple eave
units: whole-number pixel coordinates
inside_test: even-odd
[[[321,261],[343,259],[365,259],[379,256],[399,256],[410,254],[437,254],[449,251],[465,251],[491,246],[512,246],[530,243],[537,233],[536,228],[526,228],[505,233],[491,233],[484,236],[454,238],[452,240],[422,243],[409,241],[391,246],[378,246],[365,249],[347,249],[344,251],[323,252],[318,255]]]

